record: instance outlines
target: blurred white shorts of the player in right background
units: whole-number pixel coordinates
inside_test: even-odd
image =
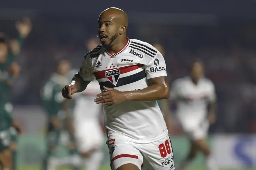
[[[208,120],[201,122],[189,122],[180,120],[183,131],[191,140],[205,139],[208,134],[210,123]]]

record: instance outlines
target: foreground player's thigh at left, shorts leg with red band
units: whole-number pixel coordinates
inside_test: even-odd
[[[107,143],[110,144],[109,154],[112,170],[129,170],[129,168],[131,170],[141,169],[143,156],[142,153],[134,147],[132,142],[120,138],[109,138]]]

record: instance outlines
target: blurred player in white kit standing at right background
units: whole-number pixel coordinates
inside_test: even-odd
[[[203,77],[203,62],[200,59],[191,63],[189,71],[189,76],[172,83],[170,92],[170,98],[177,104],[177,119],[191,143],[190,152],[179,169],[185,169],[198,151],[202,151],[206,157],[207,169],[217,170],[206,141],[209,123],[214,123],[216,119],[215,87],[212,81]]]

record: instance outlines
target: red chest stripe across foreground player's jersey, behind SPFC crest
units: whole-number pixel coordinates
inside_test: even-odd
[[[120,67],[119,68],[120,74],[124,74],[124,73],[130,72],[130,71],[136,70],[136,69],[141,68],[143,66],[144,66],[143,64],[137,64],[137,65],[132,65],[132,66]],[[93,74],[95,75],[97,80],[98,79],[103,79],[103,78],[105,78],[105,71],[114,70],[114,69],[117,69],[117,68],[97,71],[97,72],[94,72]]]

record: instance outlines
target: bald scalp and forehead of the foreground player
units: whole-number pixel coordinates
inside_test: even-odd
[[[126,13],[119,8],[116,8],[116,7],[108,8],[102,11],[100,16],[101,15],[108,15],[112,19],[115,19],[120,25],[124,25],[126,27],[128,26],[128,17]]]

